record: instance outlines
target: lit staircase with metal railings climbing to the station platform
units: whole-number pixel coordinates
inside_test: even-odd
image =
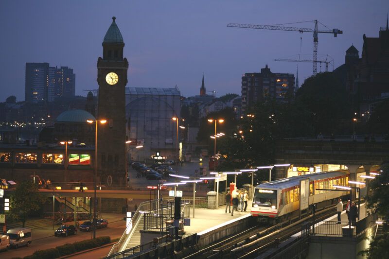
[[[122,237],[116,244],[112,246],[111,250],[108,253],[108,256],[112,254],[116,254],[119,251],[123,250],[124,248],[123,246],[127,244],[128,240],[132,237],[135,229],[137,228],[137,225],[141,218],[141,213],[155,211],[157,209],[157,204],[158,204],[158,200],[152,200],[152,201],[142,202],[139,205],[133,217],[131,218],[130,223],[125,228]]]

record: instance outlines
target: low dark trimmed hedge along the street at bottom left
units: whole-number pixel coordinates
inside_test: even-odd
[[[34,252],[34,254],[30,256],[25,256],[23,259],[54,259],[62,256],[71,255],[74,254],[75,252],[80,252],[94,247],[99,247],[110,242],[111,242],[110,237],[98,237],[96,239],[74,242],[72,244],[68,243],[68,244],[64,244],[46,250],[37,250]]]

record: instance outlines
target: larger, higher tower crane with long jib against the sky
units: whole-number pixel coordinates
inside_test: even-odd
[[[312,22],[312,21],[310,21]],[[340,31],[339,29],[328,29],[329,30],[318,30],[318,23],[322,24],[318,20],[313,20],[315,23],[315,28],[298,28],[298,27],[285,27],[280,26],[284,24],[290,24],[290,23],[284,23],[284,24],[275,24],[275,25],[254,25],[254,24],[242,24],[242,23],[229,23],[227,24],[227,27],[237,27],[237,28],[248,28],[248,29],[264,29],[264,30],[277,30],[277,31],[292,31],[292,32],[308,32],[313,33],[313,75],[316,75],[317,68],[318,68],[318,34],[319,33],[327,33],[327,34],[333,34],[334,37],[336,37],[338,34],[343,34],[343,31]],[[323,24],[324,25],[324,24]],[[325,25],[324,25],[325,26]]]

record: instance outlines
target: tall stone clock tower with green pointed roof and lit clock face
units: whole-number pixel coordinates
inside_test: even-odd
[[[112,17],[103,41],[103,58],[97,60],[99,97],[97,119],[105,119],[97,131],[98,184],[124,185],[125,181],[125,90],[128,61],[123,58],[123,36]]]

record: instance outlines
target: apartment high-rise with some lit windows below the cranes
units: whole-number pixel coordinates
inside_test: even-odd
[[[260,73],[245,73],[242,75],[242,113],[266,99],[286,101],[293,96],[294,88],[294,74],[273,73],[267,65]]]

